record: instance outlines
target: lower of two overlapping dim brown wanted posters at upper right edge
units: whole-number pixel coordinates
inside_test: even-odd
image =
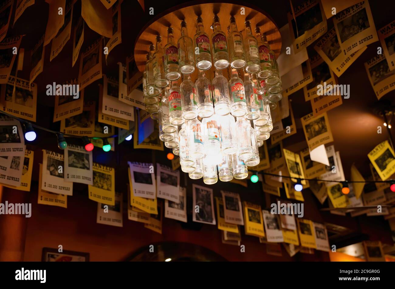
[[[395,69],[389,69],[387,59],[384,55],[379,54],[369,59],[365,62],[365,69],[378,99],[395,89]]]

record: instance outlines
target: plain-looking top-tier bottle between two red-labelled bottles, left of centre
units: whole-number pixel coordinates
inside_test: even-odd
[[[188,36],[188,29],[186,28],[185,21],[181,21],[181,37],[178,40],[178,53],[181,73],[191,74],[194,72],[194,44],[192,38]]]

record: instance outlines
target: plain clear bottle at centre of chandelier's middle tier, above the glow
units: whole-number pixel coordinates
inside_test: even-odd
[[[214,111],[220,116],[230,113],[230,98],[228,80],[222,75],[222,70],[215,68],[215,77],[212,82]]]

